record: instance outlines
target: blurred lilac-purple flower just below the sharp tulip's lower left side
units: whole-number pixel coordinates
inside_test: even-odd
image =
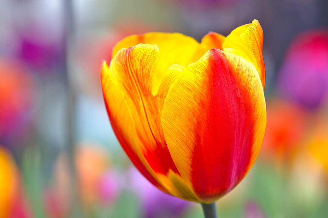
[[[158,190],[134,167],[129,170],[130,187],[141,199],[143,217],[180,217],[191,202],[179,199]]]

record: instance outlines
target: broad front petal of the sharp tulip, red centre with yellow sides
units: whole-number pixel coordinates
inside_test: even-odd
[[[233,189],[253,165],[264,136],[263,88],[254,65],[209,50],[172,84],[162,127],[182,178],[203,202]]]

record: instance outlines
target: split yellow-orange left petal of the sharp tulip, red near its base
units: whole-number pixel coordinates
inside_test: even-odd
[[[172,65],[154,96],[151,87],[157,60],[156,45],[121,49],[109,67],[103,64],[103,95],[115,135],[133,164],[162,191],[191,200],[193,195],[181,182],[161,127],[164,98],[184,67]]]

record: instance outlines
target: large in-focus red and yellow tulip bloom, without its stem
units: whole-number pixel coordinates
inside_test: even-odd
[[[157,188],[212,203],[250,170],[266,125],[262,43],[257,20],[201,43],[153,32],[123,39],[103,62],[113,130]]]

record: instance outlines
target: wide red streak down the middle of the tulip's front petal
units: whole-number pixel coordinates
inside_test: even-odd
[[[195,146],[192,184],[202,198],[213,198],[230,191],[248,170],[253,142],[252,108],[228,68],[223,54],[211,50],[205,118],[195,126],[201,135]],[[205,163],[203,163],[205,161]],[[206,194],[204,194],[206,193]]]

